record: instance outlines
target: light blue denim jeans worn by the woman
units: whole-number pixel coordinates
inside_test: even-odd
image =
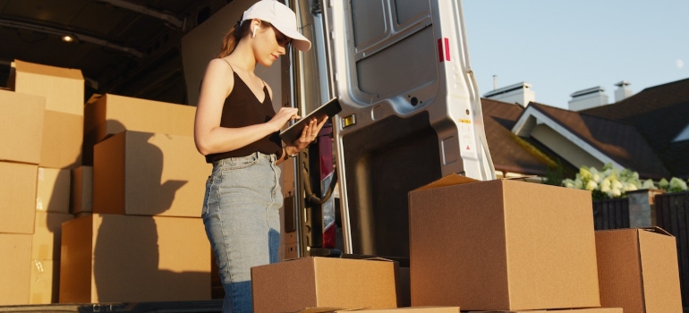
[[[251,267],[277,262],[283,205],[275,155],[213,163],[201,217],[225,289],[223,312],[252,312]]]

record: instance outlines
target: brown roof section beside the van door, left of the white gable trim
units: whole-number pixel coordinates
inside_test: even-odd
[[[516,104],[481,98],[486,140],[495,169],[510,173],[545,175],[548,161],[541,157],[541,149],[528,140],[520,139],[510,130],[523,112]]]

